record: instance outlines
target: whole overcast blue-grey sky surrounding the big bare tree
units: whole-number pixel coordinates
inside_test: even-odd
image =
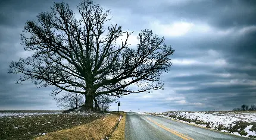
[[[52,87],[7,74],[11,61],[30,55],[20,44],[27,20],[50,11],[57,0],[0,1],[0,110],[56,110]],[[79,0],[67,2],[74,12]],[[93,1],[111,9],[112,23],[138,33],[149,28],[175,49],[173,66],[163,74],[165,90],[120,98],[120,110],[232,110],[256,104],[256,1],[129,0]],[[26,57],[25,57],[26,58]],[[117,104],[111,105],[117,110]]]

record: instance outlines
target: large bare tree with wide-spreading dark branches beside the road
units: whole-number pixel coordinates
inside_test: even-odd
[[[43,87],[54,85],[53,94],[63,90],[85,94],[88,109],[102,94],[121,96],[164,88],[160,75],[169,71],[174,53],[163,44],[164,37],[142,30],[133,48],[127,44],[132,33],[123,32],[117,24],[105,28],[110,10],[88,0],[81,1],[77,11],[75,15],[59,2],[51,12],[41,12],[38,21],[27,21],[21,42],[33,55],[11,62],[9,73],[24,74],[17,84],[32,79]],[[126,39],[117,44],[121,36]]]

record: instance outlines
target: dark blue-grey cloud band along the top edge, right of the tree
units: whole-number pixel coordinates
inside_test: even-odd
[[[249,26],[256,23],[255,1],[96,1],[108,7],[124,8],[135,15],[161,18],[186,18],[189,21],[203,21],[219,28]]]

